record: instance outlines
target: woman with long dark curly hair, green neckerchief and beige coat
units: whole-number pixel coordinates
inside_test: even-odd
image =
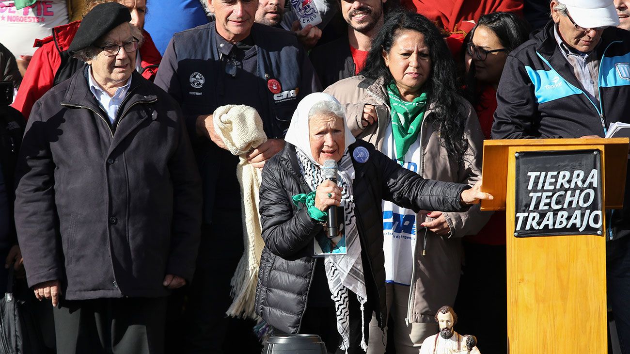
[[[329,86],[346,110],[348,127],[423,178],[473,185],[481,176],[483,133],[473,107],[459,95],[455,64],[433,23],[420,14],[391,13],[359,76]],[[438,327],[433,314],[452,306],[461,269],[461,237],[488,220],[467,212],[422,210],[383,201],[387,311],[396,353],[418,353]],[[409,324],[409,326],[407,326]],[[373,319],[369,353],[384,352]]]

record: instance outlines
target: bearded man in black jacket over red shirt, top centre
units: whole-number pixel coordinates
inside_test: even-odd
[[[316,47],[311,62],[323,88],[357,75],[365,67],[372,39],[383,25],[387,0],[340,0],[348,35]]]

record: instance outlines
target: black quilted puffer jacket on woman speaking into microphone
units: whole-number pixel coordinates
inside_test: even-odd
[[[391,200],[416,212],[420,209],[461,212],[467,207],[461,205],[460,194],[470,187],[425,180],[401,168],[376,151],[374,146],[361,140],[350,146],[351,155],[358,146],[368,149],[370,157],[366,163],[353,160],[357,227],[361,247],[368,254],[370,270],[366,270],[365,275],[374,277],[379,299],[370,299],[372,294],[368,297],[374,307],[379,306],[381,314],[384,314],[381,201]],[[285,333],[299,333],[314,273],[312,239],[318,232],[323,232],[321,224],[309,217],[306,208],[297,208],[291,201],[293,195],[310,191],[300,173],[295,147],[287,143],[284,150],[270,159],[263,169],[260,216],[265,249],[256,288],[256,312],[270,326]],[[380,319],[379,323],[382,323]]]

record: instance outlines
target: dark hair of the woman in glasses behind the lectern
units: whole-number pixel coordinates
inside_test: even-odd
[[[529,38],[529,24],[517,15],[508,12],[484,14],[479,17],[477,25],[474,26],[473,30],[471,30],[464,39],[461,58],[462,64],[464,62],[464,56],[466,55],[466,46],[469,42],[473,41],[474,31],[479,28],[479,26],[484,26],[495,33],[496,37],[499,39],[499,43],[506,49],[506,54],[510,54],[512,50],[517,49],[519,45],[525,43]],[[462,81],[466,84],[464,97],[466,97],[473,106],[476,106],[479,102],[479,93],[477,92],[477,82],[474,72],[475,67],[473,62],[471,63],[470,71],[462,74],[462,77],[464,77]]]

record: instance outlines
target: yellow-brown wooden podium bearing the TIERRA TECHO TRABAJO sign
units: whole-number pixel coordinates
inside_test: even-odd
[[[527,219],[529,216],[520,216],[527,213],[517,215],[517,198],[523,199],[523,195],[527,196],[527,193],[517,191],[517,188],[522,189],[525,186],[534,189],[536,186],[544,186],[545,183],[547,186],[555,185],[549,181],[543,181],[541,185],[539,180],[533,177],[541,175],[530,172],[529,184],[518,183],[517,186],[519,155],[537,152],[538,156],[544,156],[563,151],[569,151],[568,154],[590,151],[597,160],[600,159],[598,162],[601,168],[600,215],[606,210],[622,207],[628,158],[627,138],[484,142],[483,191],[491,193],[495,198],[484,200],[481,210],[506,210],[507,320],[510,354],[607,353],[605,243],[608,236],[605,218],[602,217],[600,231],[595,231],[595,234],[575,232],[561,236],[543,234],[520,237],[519,232],[515,232],[517,225],[522,228],[525,223],[528,226],[531,224]],[[558,163],[562,163],[563,160],[556,159]],[[518,161],[518,164],[518,168],[522,170],[525,160]],[[522,181],[522,177],[520,180]],[[561,187],[570,186],[568,181],[564,185],[559,182],[557,184]],[[566,193],[564,195],[569,195]],[[559,194],[560,197],[563,196],[562,193]],[[553,201],[555,205],[561,205],[558,202],[561,200],[560,197]],[[581,199],[580,205],[588,201],[588,195]],[[532,202],[531,205],[539,206],[537,202]],[[540,205],[544,208],[548,207],[549,203],[541,202]],[[571,200],[566,205],[571,205]],[[577,206],[578,209],[580,205]],[[563,210],[568,209],[558,209],[556,214]],[[521,224],[517,224],[518,220]],[[532,224],[532,229],[541,224],[540,220],[542,214],[541,219]],[[597,217],[593,220],[593,223],[597,222]],[[562,220],[558,220],[555,225],[559,224],[562,224]],[[553,223],[546,225],[553,226]],[[515,236],[515,233],[519,237]]]

